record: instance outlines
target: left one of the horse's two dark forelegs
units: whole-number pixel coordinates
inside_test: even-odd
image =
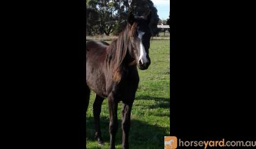
[[[112,95],[108,96],[109,106],[109,134],[110,134],[110,149],[115,149],[115,135],[117,134],[117,104],[118,102]]]

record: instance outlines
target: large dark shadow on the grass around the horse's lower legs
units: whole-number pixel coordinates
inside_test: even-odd
[[[105,144],[104,148],[108,148],[109,145],[109,118],[101,117],[101,133]],[[94,139],[94,120],[93,117],[86,118],[87,128],[86,136],[90,142],[97,142]],[[148,125],[147,123],[139,120],[131,120],[130,129],[130,148],[164,148],[164,136],[169,136],[169,128],[159,127],[157,125]],[[117,136],[115,137],[115,145],[122,145],[122,128],[121,120],[119,120],[119,128]],[[98,148],[98,147],[88,147]]]

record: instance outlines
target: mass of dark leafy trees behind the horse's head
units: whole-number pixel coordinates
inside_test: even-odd
[[[152,21],[149,24],[153,35],[158,34],[157,24],[159,17],[157,9],[150,0],[87,0],[87,23],[89,34],[97,32],[109,35],[112,32],[119,34],[127,23],[127,15],[132,11],[134,15],[147,15],[151,10]]]

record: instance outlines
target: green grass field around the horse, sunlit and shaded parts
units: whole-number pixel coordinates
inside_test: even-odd
[[[131,111],[130,148],[164,148],[164,136],[170,132],[170,43],[169,40],[152,40],[150,44],[152,63],[148,70],[139,70],[140,82]],[[108,101],[104,100],[101,111],[101,132],[105,145],[99,147],[93,138],[94,124],[92,104],[95,93],[91,93],[86,114],[86,147],[109,148]],[[115,147],[122,148],[122,103],[119,103],[119,129]]]

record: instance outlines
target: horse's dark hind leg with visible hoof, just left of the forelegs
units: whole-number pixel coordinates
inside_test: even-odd
[[[93,103],[93,117],[95,122],[95,139],[97,139],[98,144],[104,145],[104,141],[101,137],[101,129],[100,129],[100,112],[101,112],[101,105],[103,103],[104,98],[101,96],[96,95],[95,101]]]

